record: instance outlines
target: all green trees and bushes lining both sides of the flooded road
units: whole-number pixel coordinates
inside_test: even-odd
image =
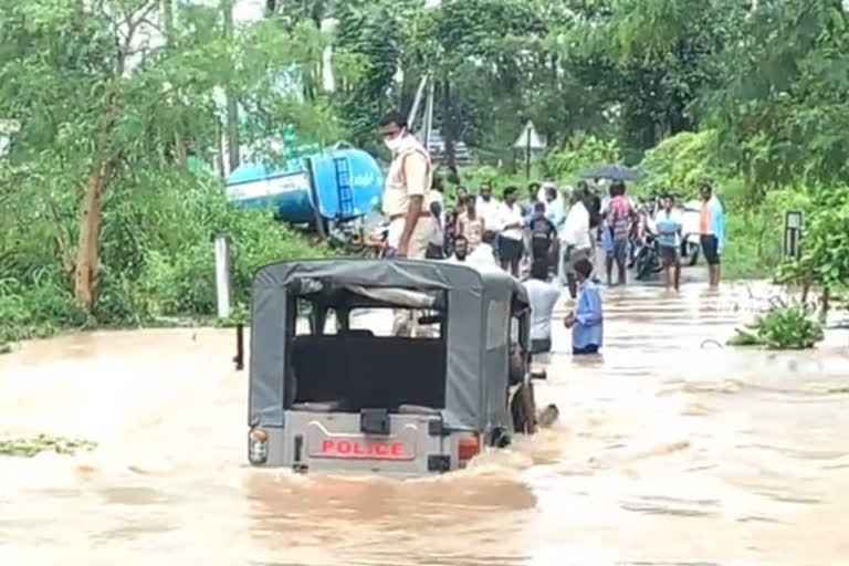
[[[211,317],[217,233],[235,242],[243,303],[258,265],[331,253],[232,210],[223,165],[240,145],[283,159],[264,142],[285,126],[386,157],[374,126],[424,73],[447,169],[458,140],[476,156],[450,187],[524,185],[512,144],[533,119],[548,145],[534,177],[622,161],[648,175],[635,191],[694,196],[710,180],[726,275],[846,290],[840,0],[276,0],[252,23],[233,3],[0,0],[0,352],[64,328]],[[805,241],[785,263],[790,209]]]

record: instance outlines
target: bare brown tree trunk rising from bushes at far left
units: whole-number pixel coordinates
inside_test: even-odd
[[[88,174],[85,195],[80,209],[80,240],[76,250],[74,297],[87,310],[97,296],[97,270],[99,264],[101,196],[112,177],[112,165],[102,164]]]

